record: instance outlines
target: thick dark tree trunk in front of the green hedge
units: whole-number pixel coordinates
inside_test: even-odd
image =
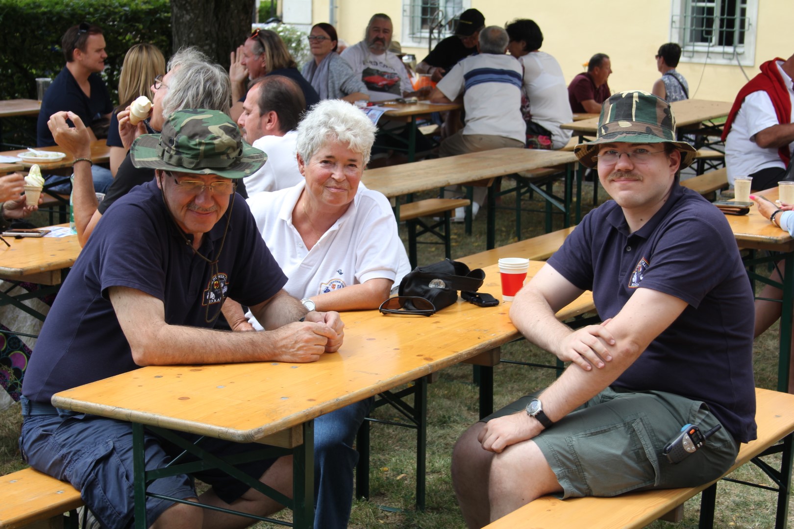
[[[251,34],[254,0],[171,0],[174,51],[195,46],[229,69],[229,53]]]

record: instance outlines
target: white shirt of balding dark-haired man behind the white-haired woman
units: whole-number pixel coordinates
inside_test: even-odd
[[[262,136],[253,142],[268,161],[259,171],[245,177],[245,192],[249,197],[261,191],[278,191],[303,182],[303,174],[298,171],[298,159],[295,158],[295,144],[298,132],[291,130],[283,136]]]

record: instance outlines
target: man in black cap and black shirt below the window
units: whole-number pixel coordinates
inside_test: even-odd
[[[465,10],[455,26],[455,34],[441,40],[421,63],[416,65],[420,74],[430,74],[434,82],[441,81],[446,72],[461,59],[477,51],[480,29],[485,27],[485,17],[478,10]]]

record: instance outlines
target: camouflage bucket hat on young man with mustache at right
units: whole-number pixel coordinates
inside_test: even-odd
[[[670,104],[642,90],[613,95],[601,106],[595,141],[573,148],[585,167],[595,167],[599,144],[673,144],[681,153],[680,169],[695,161],[696,150],[685,141],[676,141],[676,118]]]

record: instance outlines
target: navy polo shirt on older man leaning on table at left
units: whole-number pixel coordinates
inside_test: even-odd
[[[198,250],[214,258],[223,246],[214,269],[185,243],[156,182],[121,197],[102,216],[52,305],[25,373],[25,397],[48,403],[53,393],[138,367],[108,299],[111,286],[160,299],[168,324],[202,328],[212,328],[222,293],[243,305],[278,293],[287,277],[248,205],[237,195],[231,209]]]

